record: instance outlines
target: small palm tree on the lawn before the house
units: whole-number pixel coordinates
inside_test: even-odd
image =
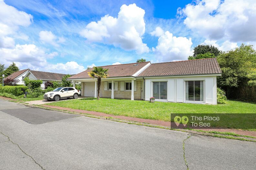
[[[98,100],[100,99],[100,88],[101,79],[108,77],[108,69],[103,69],[102,67],[93,67],[92,71],[88,72],[91,78],[96,78],[98,80]]]

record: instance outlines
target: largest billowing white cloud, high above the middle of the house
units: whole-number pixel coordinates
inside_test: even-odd
[[[112,44],[138,53],[149,52],[147,45],[142,42],[144,14],[144,9],[136,4],[122,5],[117,18],[105,15],[100,21],[89,23],[80,35],[91,42]]]

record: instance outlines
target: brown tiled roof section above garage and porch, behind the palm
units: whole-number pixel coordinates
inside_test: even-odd
[[[99,66],[104,69],[109,69],[108,71],[108,77],[128,77],[132,76],[134,73],[139,71],[141,68],[143,68],[146,64],[148,64],[149,61],[147,62],[135,62],[135,63],[129,63],[129,64],[118,64],[118,65],[107,65],[107,66]],[[135,64],[138,64],[134,66]],[[88,72],[92,70],[88,69],[83,72],[80,72],[72,77],[69,77],[69,79],[87,79],[91,78],[88,75]]]

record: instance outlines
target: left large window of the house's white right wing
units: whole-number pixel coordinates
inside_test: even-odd
[[[153,97],[155,99],[167,99],[167,82],[153,82]]]

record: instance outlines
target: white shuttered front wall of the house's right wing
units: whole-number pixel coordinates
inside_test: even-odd
[[[153,97],[154,82],[166,82],[166,96],[164,99],[155,99],[155,101],[164,102],[182,102],[182,103],[201,103],[201,104],[217,104],[217,75],[209,76],[182,76],[182,77],[145,77],[145,100]],[[200,82],[199,97],[194,100],[188,99],[187,82]],[[187,83],[188,84],[188,83]],[[195,85],[194,85],[195,86]],[[194,87],[195,88],[195,87]],[[160,91],[160,90],[159,90]],[[193,91],[193,90],[192,90]],[[187,96],[186,96],[187,95]],[[155,97],[155,96],[154,96]],[[193,94],[191,96],[193,98]]]

